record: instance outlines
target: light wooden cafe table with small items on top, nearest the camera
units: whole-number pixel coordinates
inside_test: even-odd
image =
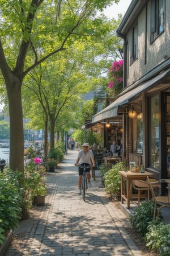
[[[134,197],[131,191],[131,183],[133,180],[146,180],[147,176],[152,177],[150,172],[131,172],[131,171],[119,171],[121,175],[121,203],[127,202],[127,208],[130,208],[130,199]],[[126,183],[125,183],[126,181]],[[136,196],[136,195],[135,195]]]

